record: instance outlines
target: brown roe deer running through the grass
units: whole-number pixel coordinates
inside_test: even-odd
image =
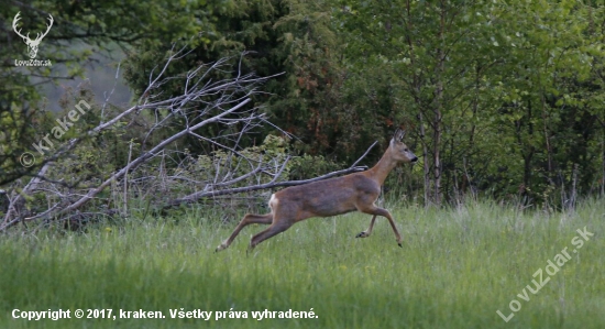
[[[224,240],[216,251],[227,249],[240,231],[251,223],[271,224],[266,230],[252,237],[249,250],[258,243],[289,229],[295,222],[311,217],[329,217],[351,211],[373,215],[367,230],[356,238],[367,238],[372,233],[376,216],[388,219],[397,244],[402,246],[402,235],[388,210],[378,208],[374,202],[381,194],[381,187],[393,168],[399,163],[416,162],[418,157],[402,142],[405,131],[397,130],[391,144],[378,163],[369,171],[353,173],[342,177],[292,186],[271,196],[266,215],[244,216],[229,239]]]

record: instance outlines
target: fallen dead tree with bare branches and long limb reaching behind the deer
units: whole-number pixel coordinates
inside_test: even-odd
[[[132,161],[129,157],[128,163],[116,167],[114,172],[96,176],[95,183],[86,187],[64,186],[59,184],[63,179],[62,176],[57,179],[51,179],[50,176],[45,177],[45,172],[51,172],[47,171],[51,162],[44,163],[37,177],[21,190],[23,196],[13,194],[9,198],[9,211],[0,223],[0,232],[19,222],[51,222],[57,219],[69,221],[84,218],[82,213],[86,213],[85,217],[91,217],[107,211],[108,207],[123,209],[117,211],[123,211],[121,215],[128,216],[125,210],[128,208],[120,207],[119,202],[129,202],[129,199],[133,196],[148,198],[148,205],[153,202],[155,209],[164,210],[183,204],[196,202],[202,198],[302,185],[339,175],[362,172],[367,168],[356,164],[369,154],[376,142],[349,168],[310,179],[284,180],[287,179],[287,175],[284,173],[287,172],[289,157],[285,153],[285,146],[283,146],[286,145],[283,136],[289,136],[289,134],[271,124],[264,113],[260,112],[256,107],[251,106],[252,98],[257,94],[262,94],[258,90],[258,85],[272,77],[256,77],[253,74],[242,75],[240,67],[234,75],[235,77],[216,81],[208,78],[210,72],[224,69],[222,66],[228,65],[224,58],[215,64],[200,66],[180,77],[164,77],[166,67],[170,61],[179,57],[178,54],[179,52],[167,59],[158,76],[153,77],[153,74],[150,75],[150,86],[145,91],[148,95],[142,97],[136,106],[121,111],[112,118],[107,118],[107,120],[101,119],[101,122],[95,128],[88,130],[80,138],[72,139],[51,158],[53,164],[56,165],[53,168],[61,167],[61,161],[66,158],[68,152],[76,150],[86,135],[96,135],[121,122],[129,114],[135,116],[141,110],[148,110],[151,112],[150,117],[155,121],[150,120],[150,128],[144,131],[141,152],[134,155]],[[162,98],[163,94],[160,86],[177,78],[183,79],[184,89],[180,91],[182,94],[170,96],[167,99]],[[157,92],[153,94],[152,90]],[[273,135],[273,140],[267,136],[268,142],[263,143],[263,146],[240,146],[240,140],[243,136],[255,133],[255,128],[265,124],[276,128],[283,136]],[[178,127],[178,129],[175,130],[175,127]],[[207,130],[202,129],[208,127],[215,128],[212,133],[208,133]],[[169,131],[169,134],[165,134],[166,131]],[[187,136],[193,136],[199,142],[211,145],[211,149],[205,154],[189,155],[186,149],[179,149],[178,143],[176,143]],[[150,138],[148,141],[147,138]],[[284,144],[280,144],[279,140]],[[169,146],[174,146],[174,149]],[[145,177],[151,177],[150,183],[136,183],[136,175],[139,174],[136,171],[148,169],[144,165],[152,164],[151,160],[153,158],[160,160],[157,171],[151,172],[156,174],[148,176],[145,172]],[[169,173],[166,172],[164,165],[165,158],[172,161],[173,164],[168,165]],[[155,163],[152,166],[155,166]],[[132,180],[127,179],[131,175],[135,178]],[[179,185],[175,184],[175,180],[190,182],[190,184]],[[92,179],[89,178],[88,182],[92,182]],[[110,188],[110,186],[113,187]],[[101,191],[105,189],[112,189],[112,197],[101,196]],[[116,190],[118,189],[120,190],[119,195],[123,196],[122,200],[116,198]],[[129,194],[130,190],[133,191]],[[170,195],[172,190],[177,190],[178,194]],[[52,198],[46,195],[47,206],[38,207],[32,211],[19,211],[18,204],[25,204],[25,196],[34,193],[47,194],[48,191],[52,193]],[[184,194],[186,196],[179,197]],[[101,208],[84,207],[91,200],[98,200],[99,202],[96,205]],[[116,207],[117,204],[118,207]],[[102,207],[106,207],[106,210],[102,210]]]

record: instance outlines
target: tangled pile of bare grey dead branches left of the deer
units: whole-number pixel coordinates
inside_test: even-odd
[[[170,64],[187,56],[185,48],[173,50],[162,67],[157,67],[148,77],[148,86],[141,92],[138,102],[114,114],[105,112],[102,105],[99,116],[101,122],[81,136],[72,139],[57,147],[53,154],[46,154],[43,161],[37,163],[34,175],[22,177],[3,188],[0,197],[6,198],[8,207],[0,219],[0,231],[14,227],[18,223],[45,223],[72,220],[85,215],[128,215],[128,199],[133,196],[133,190],[140,197],[150,197],[150,194],[162,194],[160,185],[170,182],[185,182],[187,189],[178,197],[156,198],[155,205],[160,208],[170,208],[183,204],[196,202],[202,198],[216,198],[224,195],[250,193],[254,190],[271,189],[282,186],[304,184],[317,179],[333,177],[341,174],[363,171],[355,164],[346,169],[330,173],[321,177],[308,180],[287,180],[284,171],[287,168],[289,156],[267,155],[250,156],[240,147],[239,141],[260,127],[272,127],[284,138],[290,138],[287,133],[274,127],[267,121],[266,116],[253,105],[253,96],[262,94],[262,85],[270,77],[257,77],[252,73],[244,74],[240,65],[232,65],[233,58],[222,58],[216,63],[200,65],[190,72],[167,76]],[[245,54],[242,54],[242,57]],[[230,70],[231,77],[220,80],[211,78],[215,72]],[[162,86],[178,80],[182,90],[178,96],[166,96]],[[109,98],[108,98],[109,101]],[[92,109],[95,110],[95,109]],[[87,179],[87,184],[67,184],[64,177],[54,175],[53,167],[62,166],[63,161],[73,155],[78,147],[84,147],[86,138],[107,132],[117,123],[131,124],[138,118],[146,116],[151,124],[146,129],[144,143],[140,144],[136,152],[129,150],[129,160],[125,165],[95,179]],[[219,125],[221,132],[215,135],[199,133],[207,125]],[[175,127],[178,129],[175,130]],[[166,131],[170,131],[169,134]],[[151,138],[151,136],[162,136]],[[212,145],[215,150],[221,150],[228,154],[221,167],[213,171],[212,176],[193,177],[182,175],[179,171],[167,172],[166,161],[173,161],[174,167],[179,168],[183,160],[175,154],[183,154],[176,145],[184,138],[195,138],[200,142]],[[153,140],[153,142],[151,142]],[[135,154],[135,155],[133,155]],[[160,160],[160,161],[158,161]],[[148,172],[150,166],[157,166],[155,174],[145,176],[141,168]],[[169,167],[169,166],[168,166]],[[163,173],[163,174],[157,174]],[[200,175],[204,176],[204,175]],[[141,182],[152,182],[146,189],[141,189]],[[77,180],[80,182],[80,180]],[[91,184],[91,182],[97,182]],[[243,184],[245,183],[245,184]],[[243,184],[243,185],[242,185]],[[122,194],[122,205],[116,202],[102,202],[108,199],[102,195],[106,189],[111,189],[110,196]],[[28,202],[33,196],[43,196],[44,209],[32,210]],[[38,198],[40,199],[40,198]],[[114,207],[87,207],[91,200],[95,205],[113,205]],[[101,200],[101,202],[98,202]]]

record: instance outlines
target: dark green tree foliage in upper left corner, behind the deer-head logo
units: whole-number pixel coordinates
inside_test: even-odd
[[[216,2],[212,8],[223,10]],[[15,66],[15,59],[28,58],[26,46],[12,28],[16,13],[22,34],[29,32],[32,37],[44,31],[48,14],[53,17],[36,57],[50,59],[53,66]],[[81,76],[95,53],[111,51],[116,43],[124,48],[165,45],[212,31],[212,20],[211,11],[183,1],[8,1],[0,8],[0,79],[6,81],[0,85],[0,185],[36,168],[23,167],[20,161],[40,141],[38,132],[47,131],[44,122],[52,124],[40,86]]]

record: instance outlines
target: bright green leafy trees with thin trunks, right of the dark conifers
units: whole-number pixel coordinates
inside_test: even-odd
[[[418,136],[427,201],[468,187],[543,199],[576,165],[584,190],[603,186],[603,6],[341,4],[346,63],[370,92],[393,88],[383,99]]]

